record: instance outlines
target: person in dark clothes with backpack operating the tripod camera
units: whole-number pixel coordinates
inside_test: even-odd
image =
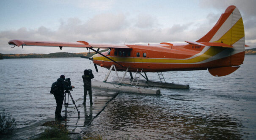
[[[51,93],[54,95],[56,100],[55,119],[63,121],[64,118],[61,116],[61,109],[63,104],[64,90],[72,90],[74,86],[66,86],[65,76],[61,75],[57,82],[52,83]]]

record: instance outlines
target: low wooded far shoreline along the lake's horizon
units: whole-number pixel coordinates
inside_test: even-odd
[[[104,49],[99,52],[105,52],[107,49]],[[10,59],[10,58],[76,58],[80,56],[88,56],[91,57],[95,52],[81,52],[81,53],[69,53],[69,52],[56,52],[50,54],[1,54],[0,59]],[[256,48],[253,49],[245,49],[245,55],[256,55]]]

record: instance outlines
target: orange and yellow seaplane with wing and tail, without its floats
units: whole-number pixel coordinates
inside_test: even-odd
[[[184,41],[181,44],[162,42],[159,44],[93,44],[86,41],[55,42],[11,40],[15,46],[77,47],[96,52],[92,57],[96,71],[98,66],[110,71],[130,73],[131,85],[138,84],[142,75],[149,81],[146,72],[156,72],[160,81],[165,82],[162,72],[207,70],[216,77],[226,76],[236,71],[245,57],[245,31],[238,8],[229,6],[221,14],[215,26],[197,41]],[[99,49],[108,49],[99,52]],[[133,78],[132,72],[135,73]],[[144,75],[143,75],[144,73]],[[125,75],[124,74],[124,75]],[[136,76],[136,75],[139,76]],[[137,77],[137,79],[136,79]],[[123,77],[124,78],[124,77]],[[122,78],[122,79],[123,79]],[[121,83],[122,79],[118,82]],[[154,85],[154,84],[153,84]],[[187,86],[186,86],[187,87]],[[189,88],[189,87],[188,87]]]

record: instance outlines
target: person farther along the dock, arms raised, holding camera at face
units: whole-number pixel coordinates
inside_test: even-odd
[[[83,86],[84,86],[84,96],[83,96],[83,104],[85,105],[86,102],[86,95],[87,91],[89,92],[90,97],[90,104],[92,105],[92,92],[91,92],[91,79],[94,78],[94,74],[92,74],[91,69],[85,69],[84,74],[82,75],[83,78]]]

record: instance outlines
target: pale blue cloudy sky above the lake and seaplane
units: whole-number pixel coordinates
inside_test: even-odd
[[[245,44],[256,47],[256,0],[0,0],[0,53],[88,52],[14,47],[12,39],[154,44],[196,41],[229,5],[242,14]]]

